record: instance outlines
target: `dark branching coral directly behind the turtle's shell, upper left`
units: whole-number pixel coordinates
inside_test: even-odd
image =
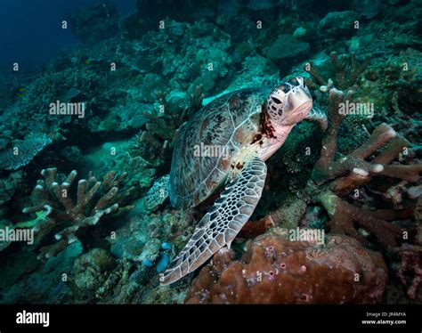
[[[203,99],[202,85],[196,87],[187,106],[169,102],[165,93],[158,93],[160,112],[144,112],[144,116],[150,121],[146,124],[146,129],[135,136],[133,150],[139,150],[142,158],[154,165],[169,162],[178,129],[201,108]]]

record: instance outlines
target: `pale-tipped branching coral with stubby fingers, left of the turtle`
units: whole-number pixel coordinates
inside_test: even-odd
[[[88,180],[79,180],[76,202],[70,196],[71,186],[77,178],[76,170],[70,172],[66,179],[57,174],[56,168],[44,169],[41,175],[45,179],[38,180],[31,193],[32,206],[22,210],[23,213],[38,213],[38,217],[17,224],[18,227],[34,226],[37,244],[53,229],[61,227],[61,231],[54,235],[57,242],[40,248],[39,259],[56,256],[77,240],[77,231],[95,225],[103,215],[122,213],[131,208],[122,207],[122,204],[132,189],[119,191],[126,173],[118,176],[115,171],[110,171],[104,175],[102,182],[97,181],[93,175]],[[39,214],[43,211],[44,214]]]

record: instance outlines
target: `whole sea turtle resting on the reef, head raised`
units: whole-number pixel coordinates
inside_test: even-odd
[[[170,174],[154,183],[144,205],[152,209],[169,196],[174,207],[195,207],[225,188],[161,275],[162,285],[193,272],[220,248],[230,248],[261,198],[264,161],[302,119],[324,124],[323,113],[311,110],[312,97],[303,77],[294,77],[273,90],[226,93],[188,121],[174,144]]]

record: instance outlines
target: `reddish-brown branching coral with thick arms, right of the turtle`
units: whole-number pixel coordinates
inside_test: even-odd
[[[383,245],[395,247],[402,239],[402,229],[386,221],[409,218],[411,209],[369,210],[354,206],[341,197],[369,183],[374,176],[417,182],[422,166],[392,164],[408,142],[386,124],[377,126],[369,139],[348,156],[336,158],[338,129],[345,118],[338,108],[352,94],[353,91],[343,93],[335,88],[329,92],[329,128],[322,139],[321,157],[313,168],[305,193],[308,200],[325,207],[331,218],[331,231],[366,242],[356,231],[356,223],[374,234]],[[383,148],[375,158],[366,160]]]

